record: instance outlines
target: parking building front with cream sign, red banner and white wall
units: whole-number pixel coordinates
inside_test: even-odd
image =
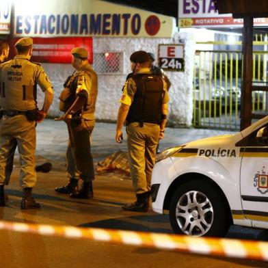
[[[191,126],[194,42],[191,34],[177,32],[175,18],[100,0],[14,0],[13,14],[11,47],[18,38],[33,38],[32,60],[42,63],[53,81],[55,100],[50,116],[60,114],[58,96],[66,77],[73,72],[73,47],[88,49],[98,73],[96,118],[115,122],[121,90],[131,71],[131,53],[145,50],[159,59],[160,44],[181,44],[183,65],[177,62],[180,68],[172,68],[178,59],[171,59],[167,66],[172,82],[169,121],[172,125]]]

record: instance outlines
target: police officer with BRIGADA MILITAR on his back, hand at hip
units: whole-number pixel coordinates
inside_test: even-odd
[[[31,196],[36,185],[36,123],[42,122],[53,100],[52,84],[40,64],[30,62],[33,40],[21,38],[15,44],[14,59],[0,65],[0,205],[5,206],[4,184],[8,184],[8,163],[13,162],[18,146],[23,187],[21,209],[36,209],[40,204]],[[37,109],[36,85],[44,92],[44,105]]]

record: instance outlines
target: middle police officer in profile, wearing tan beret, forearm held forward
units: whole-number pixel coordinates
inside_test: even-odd
[[[71,198],[93,198],[94,165],[91,155],[91,134],[95,124],[95,104],[98,77],[88,63],[88,51],[82,47],[72,49],[72,66],[76,72],[66,81],[70,90],[70,103],[64,120],[68,126],[69,142],[66,152],[69,182],[57,187],[58,193],[70,193]],[[66,90],[65,89],[65,90]],[[78,180],[83,180],[78,190]]]

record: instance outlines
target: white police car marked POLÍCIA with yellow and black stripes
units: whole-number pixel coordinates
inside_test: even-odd
[[[168,212],[183,235],[222,237],[231,224],[268,228],[268,116],[235,135],[161,152],[152,209]]]

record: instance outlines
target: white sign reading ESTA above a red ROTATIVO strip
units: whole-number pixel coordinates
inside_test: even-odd
[[[268,18],[254,18],[254,25],[268,25]],[[243,18],[218,14],[214,0],[178,0],[178,27],[243,27]]]

